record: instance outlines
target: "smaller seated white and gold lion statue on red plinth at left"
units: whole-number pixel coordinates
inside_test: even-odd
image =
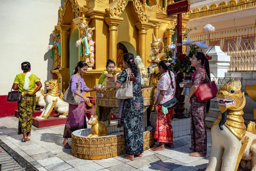
[[[55,109],[55,111],[58,112],[55,116],[58,116],[59,118],[67,118],[68,103],[63,101],[63,93],[59,93],[58,80],[51,79],[48,82],[44,82],[44,84],[49,92],[44,96],[45,107],[43,112],[40,116],[37,116],[36,119],[47,119],[52,112],[52,109]]]

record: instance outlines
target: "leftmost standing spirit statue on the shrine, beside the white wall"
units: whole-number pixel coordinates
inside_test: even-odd
[[[54,41],[52,45],[49,45],[47,47],[47,49],[50,50],[50,57],[54,59],[52,70],[55,70],[61,67],[61,38],[60,36],[58,36],[58,31],[56,30],[56,28],[54,31],[52,31],[52,36]],[[53,48],[55,48],[54,53]]]

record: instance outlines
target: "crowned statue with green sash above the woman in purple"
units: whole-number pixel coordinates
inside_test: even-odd
[[[95,28],[89,28],[88,22],[83,18],[80,27],[83,31],[82,38],[76,41],[76,47],[79,47],[79,54],[83,57],[83,61],[87,62],[89,67],[94,66],[94,42],[92,39]],[[81,45],[81,43],[83,45]]]

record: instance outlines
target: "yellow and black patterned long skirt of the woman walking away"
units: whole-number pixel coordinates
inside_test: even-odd
[[[19,128],[18,134],[23,134],[31,131],[32,116],[35,111],[36,96],[22,95],[18,102],[19,113]]]

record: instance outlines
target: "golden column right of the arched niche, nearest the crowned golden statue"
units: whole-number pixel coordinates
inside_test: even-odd
[[[147,30],[151,28],[153,24],[148,22],[137,22],[135,25],[139,29],[140,35],[140,58],[142,59],[143,64],[146,66],[146,35]]]

